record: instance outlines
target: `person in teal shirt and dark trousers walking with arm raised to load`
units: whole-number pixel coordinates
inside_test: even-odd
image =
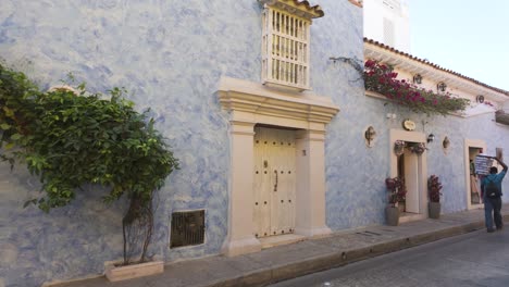
[[[492,166],[489,174],[483,178],[483,201],[484,201],[484,217],[486,229],[488,233],[495,232],[493,228],[493,221],[495,219],[495,226],[501,229],[504,226],[500,210],[501,210],[501,182],[507,173],[507,164],[495,157],[489,157],[496,160],[504,170],[498,173],[498,169]]]

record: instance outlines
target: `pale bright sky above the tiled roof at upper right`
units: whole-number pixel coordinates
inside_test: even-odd
[[[408,0],[411,54],[509,91],[509,0]]]

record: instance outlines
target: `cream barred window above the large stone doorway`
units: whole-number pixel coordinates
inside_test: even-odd
[[[263,12],[262,80],[264,84],[309,89],[311,22],[266,7]]]

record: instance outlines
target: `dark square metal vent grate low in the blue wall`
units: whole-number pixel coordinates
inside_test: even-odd
[[[202,245],[204,240],[204,210],[172,213],[170,248]]]

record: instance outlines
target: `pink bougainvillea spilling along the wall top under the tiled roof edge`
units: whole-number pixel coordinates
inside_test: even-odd
[[[442,114],[463,111],[470,103],[468,99],[452,97],[450,93],[437,95],[432,90],[419,88],[405,79],[396,79],[398,73],[393,67],[368,60],[364,63],[364,86],[367,90],[378,92],[415,113]]]

